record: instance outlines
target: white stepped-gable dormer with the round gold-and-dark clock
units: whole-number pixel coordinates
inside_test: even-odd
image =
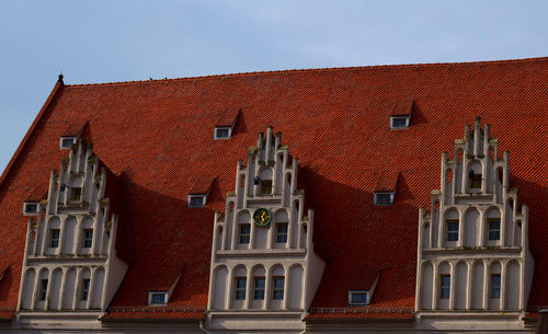
[[[289,161],[279,133],[269,127],[263,137],[249,149],[248,164],[238,162],[225,216],[215,216],[210,330],[302,331],[323,273],[313,252],[313,210],[304,211],[305,195],[297,189],[298,160]],[[254,216],[265,210],[271,220],[261,226]]]

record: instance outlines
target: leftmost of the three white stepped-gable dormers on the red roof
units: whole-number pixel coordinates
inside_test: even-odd
[[[62,160],[59,175],[52,172],[47,199],[30,218],[20,323],[65,318],[99,325],[127,269],[114,249],[117,215],[105,198],[109,173],[83,141]]]

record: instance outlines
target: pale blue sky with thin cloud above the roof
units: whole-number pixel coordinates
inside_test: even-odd
[[[548,56],[548,1],[2,1],[0,170],[66,83]]]

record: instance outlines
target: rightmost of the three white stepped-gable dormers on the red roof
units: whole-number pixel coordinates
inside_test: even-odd
[[[509,152],[476,118],[473,131],[442,154],[441,189],[420,209],[418,324],[448,330],[523,330],[534,260],[527,206],[509,186]]]

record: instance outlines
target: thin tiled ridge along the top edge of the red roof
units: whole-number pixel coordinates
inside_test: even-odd
[[[495,65],[509,62],[533,62],[533,61],[548,61],[546,57],[532,57],[532,58],[514,58],[514,59],[498,59],[498,60],[478,60],[478,61],[459,61],[459,62],[415,62],[415,64],[389,64],[389,65],[367,65],[367,66],[341,66],[341,67],[324,67],[324,68],[304,68],[304,69],[286,69],[286,70],[271,70],[271,71],[249,71],[236,72],[224,74],[206,74],[194,77],[181,78],[164,78],[164,79],[149,79],[149,80],[129,80],[129,81],[113,81],[100,83],[76,83],[67,84],[66,88],[87,88],[87,87],[101,87],[101,85],[128,85],[141,83],[163,83],[169,81],[186,81],[186,80],[207,80],[217,78],[233,78],[233,77],[250,77],[262,74],[279,74],[279,73],[300,73],[300,72],[321,72],[321,71],[335,71],[335,70],[357,70],[357,69],[378,69],[378,68],[413,68],[413,67],[441,67],[441,66],[473,66],[473,65]]]

